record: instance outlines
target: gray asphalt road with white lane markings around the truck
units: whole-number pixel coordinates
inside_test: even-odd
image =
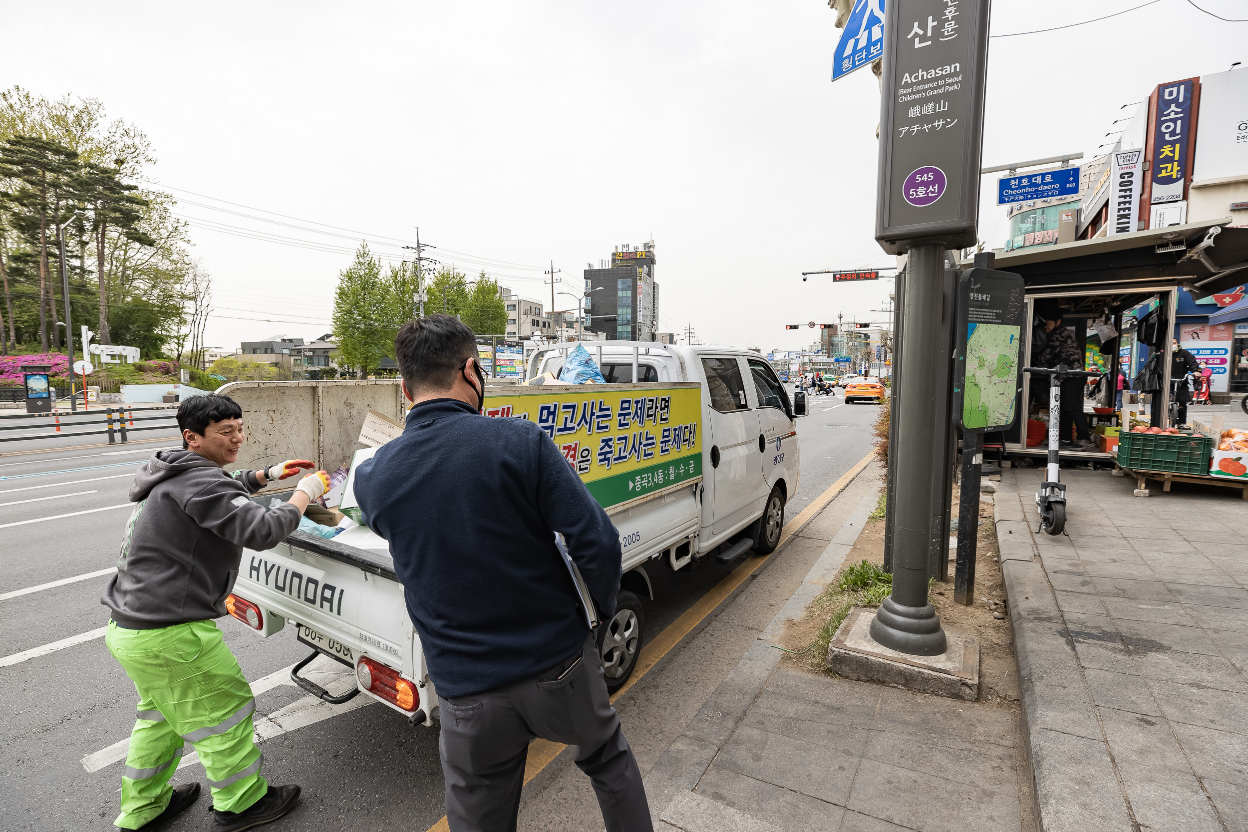
[[[789,516],[869,450],[877,409],[842,402],[839,394],[816,397],[810,417],[799,420],[802,476]],[[135,692],[96,635],[107,621],[99,602],[107,576],[91,574],[115,563],[134,470],[151,450],[177,444],[172,432],[140,435],[144,444],[124,447],[67,449],[65,439],[0,445],[2,830],[106,830],[116,817],[125,753],[119,743],[134,723]],[[47,447],[56,443],[59,449]],[[646,604],[648,632],[671,624],[728,571],[709,563],[679,574],[650,570],[655,600]],[[91,576],[10,595],[82,575]],[[271,828],[421,832],[442,817],[436,730],[411,728],[363,696],[337,709],[314,704],[287,681],[286,669],[306,655],[293,632],[263,640],[232,619],[221,627],[266,715],[258,725],[266,776],[305,790],[305,807]],[[327,660],[314,666],[337,672]],[[190,780],[202,781],[193,758],[173,782]],[[208,828],[207,805],[201,798],[171,828]]]

